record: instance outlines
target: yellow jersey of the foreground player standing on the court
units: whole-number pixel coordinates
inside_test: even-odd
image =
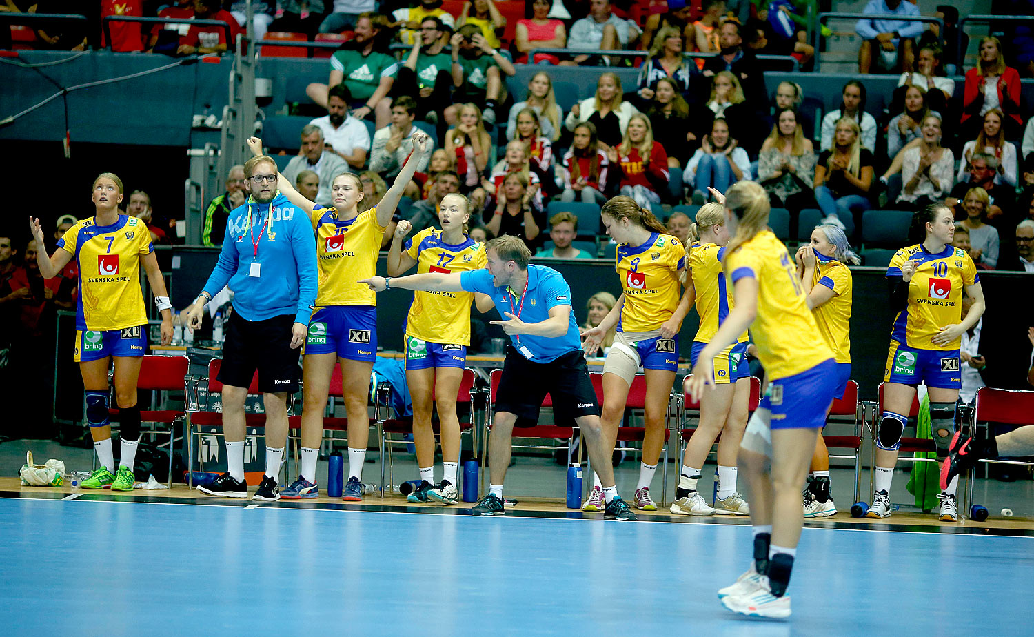
[[[833,358],[808,309],[797,268],[770,230],[759,232],[729,254],[726,272],[733,283],[748,276],[758,282],[758,313],[751,333],[769,381],[796,375]]]

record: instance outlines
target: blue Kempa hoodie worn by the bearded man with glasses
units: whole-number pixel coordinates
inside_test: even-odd
[[[261,232],[264,224],[266,230]],[[258,240],[257,255],[252,237]],[[260,264],[257,277],[250,276],[252,263]],[[234,310],[248,321],[295,314],[295,323],[308,325],[317,280],[312,223],[304,211],[277,192],[269,204],[256,204],[249,198],[248,203],[231,211],[222,251],[205,292],[215,295],[229,284],[234,292]]]

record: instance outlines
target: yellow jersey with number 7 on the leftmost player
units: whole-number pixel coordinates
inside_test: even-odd
[[[154,251],[151,233],[136,217],[121,214],[111,225],[82,219],[58,240],[79,263],[75,329],[124,330],[147,325],[140,286],[140,257]]]

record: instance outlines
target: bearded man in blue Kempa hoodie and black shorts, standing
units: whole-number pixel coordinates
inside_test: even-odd
[[[227,284],[234,292],[217,376],[229,471],[197,490],[247,497],[244,400],[257,369],[266,407],[266,475],[252,499],[275,501],[287,437],[287,396],[298,391],[298,348],[316,298],[316,244],[308,216],[277,191],[272,158],[252,157],[244,164],[244,176],[250,196],[230,213],[219,261],[187,315],[187,325],[201,326],[212,295]]]

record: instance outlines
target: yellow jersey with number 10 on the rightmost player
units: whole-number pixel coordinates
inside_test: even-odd
[[[944,246],[936,254],[921,244],[898,250],[887,276],[901,276],[905,262],[916,262],[908,285],[908,305],[894,317],[891,338],[919,350],[957,350],[962,339],[943,345],[931,340],[941,328],[962,321],[963,287],[980,280],[973,260],[962,248]]]

